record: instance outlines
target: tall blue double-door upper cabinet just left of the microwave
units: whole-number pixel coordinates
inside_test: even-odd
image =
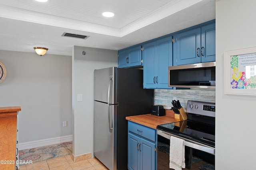
[[[168,87],[168,66],[172,66],[172,37],[142,45],[144,88]]]

